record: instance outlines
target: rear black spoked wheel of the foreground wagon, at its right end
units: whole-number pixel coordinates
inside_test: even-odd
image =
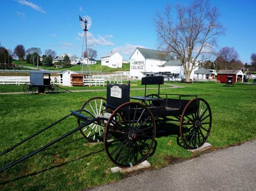
[[[180,137],[188,149],[197,149],[205,143],[211,120],[211,108],[206,100],[195,98],[187,103],[180,119]]]

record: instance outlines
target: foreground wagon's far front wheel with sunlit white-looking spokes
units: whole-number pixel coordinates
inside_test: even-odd
[[[106,103],[106,99],[102,97],[95,97],[88,99],[81,107],[83,115],[86,115],[90,119],[97,117],[105,117],[108,118],[111,115],[111,111],[108,111],[106,107],[103,105]],[[80,126],[81,120],[78,119],[78,126]],[[106,121],[100,121],[98,123],[91,123],[88,126],[80,129],[81,134],[85,137],[89,142],[98,142],[103,140],[104,128],[106,125]]]

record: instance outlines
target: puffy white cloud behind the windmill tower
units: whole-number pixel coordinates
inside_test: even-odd
[[[78,35],[83,38],[83,33],[78,33]],[[107,36],[108,38],[113,37],[112,35],[107,35]],[[76,38],[76,40],[82,40],[82,39]],[[90,32],[87,32],[87,42],[88,42],[88,45],[93,47],[96,47],[98,45],[114,46],[113,42],[111,42],[110,40],[106,40],[106,36],[102,37],[101,35],[98,34],[98,38],[95,38],[93,34]]]

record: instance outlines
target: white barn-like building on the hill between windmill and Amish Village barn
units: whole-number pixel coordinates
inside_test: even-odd
[[[122,68],[122,56],[116,51],[101,57],[101,65],[110,68]]]

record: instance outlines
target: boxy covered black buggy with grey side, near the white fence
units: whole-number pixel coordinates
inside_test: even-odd
[[[23,86],[23,92],[27,95],[36,93],[52,92],[58,93],[58,86],[51,83],[49,71],[30,71],[30,82],[26,82]]]

